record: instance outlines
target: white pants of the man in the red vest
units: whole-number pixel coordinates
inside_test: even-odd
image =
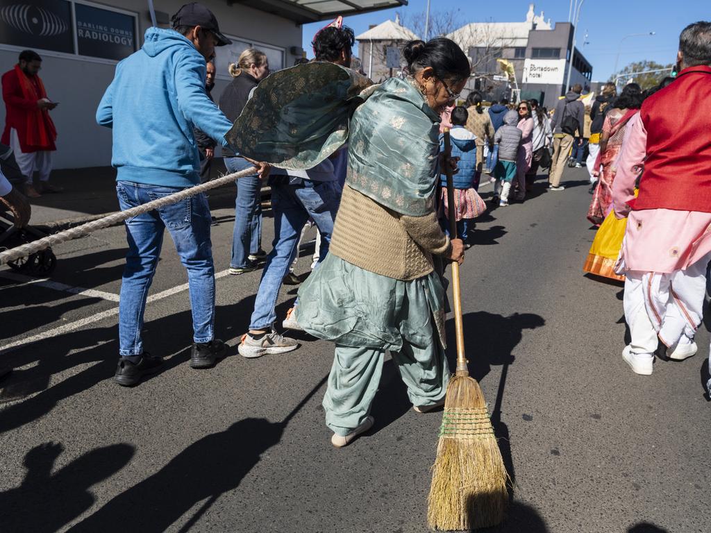
[[[632,353],[651,355],[657,338],[666,346],[693,340],[703,316],[706,266],[711,254],[670,274],[626,272],[624,316]]]

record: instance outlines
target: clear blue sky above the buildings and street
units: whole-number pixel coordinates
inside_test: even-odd
[[[535,3],[535,13],[545,12],[545,18],[552,23],[567,22],[570,1],[540,0]],[[470,22],[519,22],[525,21],[528,0],[474,1],[474,0],[432,0],[431,11],[457,11],[461,14],[461,24]],[[503,8],[502,6],[506,6]],[[410,0],[408,6],[400,8],[405,16],[424,13],[427,0]],[[370,24],[378,24],[387,18],[394,19],[397,9],[387,9],[375,13],[343,18],[343,23],[351,26],[355,35],[368,30]],[[621,50],[619,69],[633,61],[654,60],[658,63],[674,63],[678,48],[679,33],[692,22],[711,19],[709,0],[585,0],[580,11],[577,48],[592,63],[592,79],[607,80],[614,70],[618,49]],[[313,57],[311,39],[314,33],[328,22],[304,24],[304,50]],[[587,31],[588,44],[582,45]],[[654,36],[626,38],[620,47],[620,40],[631,33],[648,33]]]

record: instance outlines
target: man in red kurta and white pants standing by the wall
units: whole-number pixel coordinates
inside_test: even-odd
[[[41,192],[58,193],[61,188],[50,185],[52,152],[57,148],[57,130],[49,116],[57,107],[50,101],[41,78],[37,75],[42,58],[33,50],[23,50],[12,70],[2,75],[2,99],[5,102],[5,129],[1,142],[9,144],[23,176],[26,194],[38,198]],[[33,175],[39,172],[41,187],[33,185]],[[38,190],[40,189],[40,190]]]

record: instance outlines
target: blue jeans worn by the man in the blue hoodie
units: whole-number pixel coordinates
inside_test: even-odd
[[[119,181],[116,192],[122,210],[183,190]],[[193,340],[213,340],[215,320],[215,267],[210,242],[210,208],[205,195],[198,194],[129,218],[125,222],[129,251],[121,282],[119,301],[119,355],[141,355],[141,328],[148,289],[161,255],[167,227],[183,266],[188,271],[193,309]]]

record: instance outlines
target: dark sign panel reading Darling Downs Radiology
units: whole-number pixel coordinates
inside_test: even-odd
[[[120,61],[136,51],[136,19],[84,4],[74,6],[79,55]]]

